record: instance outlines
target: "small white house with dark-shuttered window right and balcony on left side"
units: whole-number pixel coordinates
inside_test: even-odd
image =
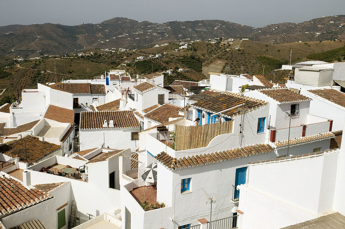
[[[164,104],[169,102],[169,90],[161,86],[144,82],[132,88],[132,94],[128,96],[128,103],[135,108],[139,113],[142,110],[153,106],[155,104]]]

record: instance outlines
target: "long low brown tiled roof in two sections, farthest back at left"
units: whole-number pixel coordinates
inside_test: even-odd
[[[91,83],[57,83],[51,85],[52,88],[66,91],[72,94],[94,94],[105,95],[106,87],[104,84]]]

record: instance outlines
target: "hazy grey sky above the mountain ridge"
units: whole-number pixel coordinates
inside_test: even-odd
[[[77,25],[125,17],[167,22],[219,19],[253,27],[345,14],[345,0],[0,0],[0,26]]]

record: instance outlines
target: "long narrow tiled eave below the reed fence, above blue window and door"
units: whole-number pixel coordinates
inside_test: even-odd
[[[211,154],[201,154],[191,157],[188,156],[187,158],[173,158],[165,152],[162,152],[155,156],[155,158],[158,160],[158,162],[170,169],[181,169],[198,165],[213,164],[239,157],[270,153],[272,151],[273,148],[268,144],[257,144],[242,148],[223,150],[221,152]]]

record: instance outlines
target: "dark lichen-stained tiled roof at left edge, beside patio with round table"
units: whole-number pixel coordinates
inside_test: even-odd
[[[1,144],[0,153],[10,157],[16,157],[16,155],[18,155],[20,162],[28,162],[31,164],[60,147],[60,145],[55,145],[46,141],[42,142],[38,137],[26,135],[20,139]],[[28,160],[26,159],[25,151],[27,152]]]

